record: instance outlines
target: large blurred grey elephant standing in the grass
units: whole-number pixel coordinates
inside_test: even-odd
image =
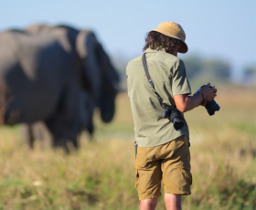
[[[102,121],[112,121],[118,85],[110,58],[90,30],[34,25],[0,33],[0,89],[5,89],[0,104],[5,108],[5,124],[31,126],[43,121],[55,147],[68,151],[70,141],[77,148],[81,127],[91,123],[88,129],[93,131],[93,109],[83,110],[84,99],[100,108]],[[83,97],[84,93],[89,95]],[[85,121],[80,118],[84,113]]]

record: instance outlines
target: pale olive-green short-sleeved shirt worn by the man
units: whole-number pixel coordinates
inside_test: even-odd
[[[165,49],[145,50],[147,67],[155,90],[163,103],[175,104],[174,96],[190,94],[186,68],[183,61],[165,52]],[[176,131],[173,123],[161,116],[162,107],[144,72],[142,56],[133,58],[126,68],[128,96],[133,112],[135,139],[140,147],[153,147],[175,140],[189,131],[185,121],[181,131]]]

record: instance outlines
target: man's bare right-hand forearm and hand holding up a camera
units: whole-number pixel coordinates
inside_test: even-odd
[[[217,96],[217,89],[211,89],[209,85],[208,83],[208,85],[202,88],[195,96],[188,96],[187,94],[174,96],[176,109],[181,112],[186,112],[187,110],[193,110],[199,105],[205,106],[207,101],[213,100]],[[203,100],[204,103],[202,103]]]

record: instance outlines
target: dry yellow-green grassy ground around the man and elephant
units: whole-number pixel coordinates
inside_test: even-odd
[[[183,209],[256,209],[256,89],[220,87],[216,100],[212,117],[203,107],[185,114],[193,184]],[[116,102],[114,121],[96,114],[95,141],[84,133],[69,155],[38,142],[29,151],[18,126],[0,128],[0,209],[138,209],[130,101]]]

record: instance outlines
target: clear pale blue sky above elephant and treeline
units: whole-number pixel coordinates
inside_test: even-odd
[[[235,79],[256,64],[255,0],[0,0],[0,30],[35,23],[66,24],[95,32],[109,55],[142,54],[144,37],[160,23],[180,24],[188,52],[228,61]]]

